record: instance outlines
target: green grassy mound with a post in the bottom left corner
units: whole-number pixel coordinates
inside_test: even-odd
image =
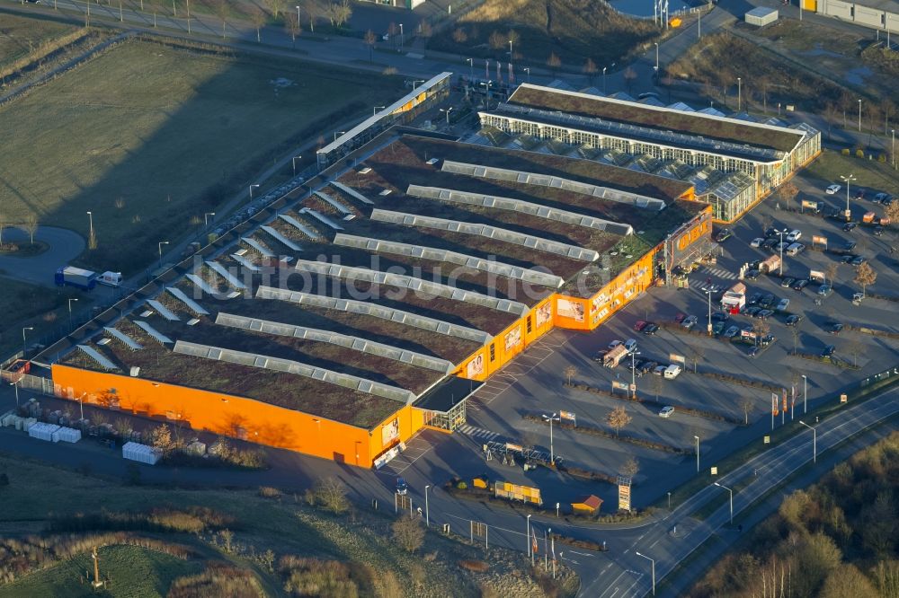
[[[202,567],[162,552],[137,546],[104,546],[97,550],[101,578],[110,579],[102,595],[116,598],[165,596],[176,577],[196,573]],[[81,554],[43,569],[10,585],[0,586],[2,598],[95,596],[90,585],[81,584],[85,571],[93,572],[90,554]],[[93,575],[93,574],[92,574]]]

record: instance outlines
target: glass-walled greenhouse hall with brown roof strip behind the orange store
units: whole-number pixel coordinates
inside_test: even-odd
[[[719,222],[734,222],[821,153],[821,133],[804,123],[562,86],[521,84],[495,110],[479,113],[480,136],[686,180]]]

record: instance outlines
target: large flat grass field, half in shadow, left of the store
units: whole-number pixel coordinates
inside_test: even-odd
[[[36,214],[85,237],[90,210],[98,249],[79,263],[135,272],[274,157],[387,103],[398,83],[129,42],[0,109],[0,205],[10,222]]]

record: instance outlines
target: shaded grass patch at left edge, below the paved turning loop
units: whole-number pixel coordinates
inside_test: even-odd
[[[23,327],[34,328],[28,332],[33,340],[66,326],[67,300],[77,296],[70,288],[49,289],[0,278],[0,313],[6,314],[0,324],[0,359],[22,350]]]

